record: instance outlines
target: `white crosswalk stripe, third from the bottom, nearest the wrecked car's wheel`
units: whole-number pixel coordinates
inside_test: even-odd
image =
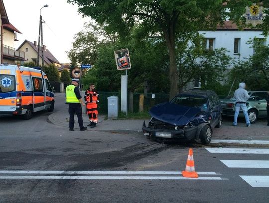
[[[252,148],[205,148],[210,153],[225,154],[269,154],[269,149],[252,149]]]

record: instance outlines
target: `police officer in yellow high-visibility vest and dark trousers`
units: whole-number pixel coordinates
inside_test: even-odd
[[[83,126],[83,120],[82,120],[82,110],[81,110],[81,104],[82,106],[85,106],[83,103],[82,97],[79,93],[78,89],[79,79],[73,78],[71,85],[68,85],[66,87],[66,104],[68,104],[68,112],[69,112],[69,130],[74,131],[74,115],[75,113],[78,116],[78,123],[80,131],[87,130],[87,127]]]

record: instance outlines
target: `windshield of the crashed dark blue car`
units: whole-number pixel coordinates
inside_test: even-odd
[[[177,96],[171,103],[188,107],[200,108],[202,111],[208,111],[206,98],[194,96]]]

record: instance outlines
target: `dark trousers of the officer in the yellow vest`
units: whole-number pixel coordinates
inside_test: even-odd
[[[74,129],[75,124],[74,115],[76,113],[78,117],[79,128],[83,129],[84,126],[83,126],[82,109],[80,103],[73,103],[73,104],[69,103],[68,112],[69,112],[69,128]]]

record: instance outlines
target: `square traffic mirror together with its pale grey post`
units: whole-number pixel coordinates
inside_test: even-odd
[[[126,112],[127,116],[127,70],[131,69],[128,49],[114,51],[117,70],[125,70],[125,75],[121,75],[121,111]]]

